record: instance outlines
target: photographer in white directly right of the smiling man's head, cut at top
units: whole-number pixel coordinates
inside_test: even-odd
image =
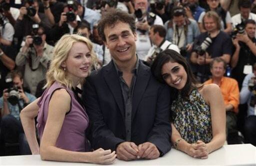
[[[134,0],[135,8],[135,24],[136,24],[136,52],[139,59],[144,59],[149,51],[152,43],[150,43],[148,31],[151,25],[163,25],[162,19],[154,14],[148,12],[147,0]]]

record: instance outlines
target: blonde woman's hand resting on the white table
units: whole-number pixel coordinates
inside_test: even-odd
[[[89,163],[94,164],[113,164],[116,158],[115,151],[103,150],[102,148],[91,152]]]

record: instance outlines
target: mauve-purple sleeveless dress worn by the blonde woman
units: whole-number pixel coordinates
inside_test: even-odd
[[[88,116],[84,107],[76,100],[74,92],[58,82],[54,82],[47,88],[37,103],[39,112],[36,119],[36,127],[38,129],[40,140],[47,120],[49,100],[52,93],[60,88],[65,89],[70,95],[71,105],[70,111],[65,115],[55,146],[68,151],[86,152],[88,149],[86,147],[87,140],[85,137],[85,130],[89,123]]]

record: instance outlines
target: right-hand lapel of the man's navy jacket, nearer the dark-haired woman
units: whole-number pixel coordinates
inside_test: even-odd
[[[141,61],[139,61],[138,75],[136,77],[135,87],[132,96],[132,116],[131,121],[136,114],[138,105],[143,97],[148,81],[151,77],[150,70]]]

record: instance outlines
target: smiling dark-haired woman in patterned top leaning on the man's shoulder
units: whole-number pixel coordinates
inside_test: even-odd
[[[173,91],[173,146],[191,157],[206,159],[225,141],[225,107],[217,85],[197,83],[186,60],[173,50],[155,58],[151,72]]]

